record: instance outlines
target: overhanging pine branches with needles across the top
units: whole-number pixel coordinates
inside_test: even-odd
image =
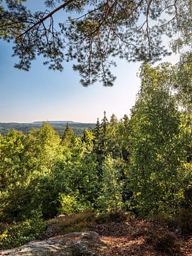
[[[190,0],[46,0],[45,11],[35,13],[26,4],[0,1],[0,36],[14,42],[19,69],[29,70],[42,55],[53,70],[73,61],[84,86],[97,80],[112,86],[114,57],[153,63],[170,54],[164,35],[175,52],[191,48]],[[59,11],[64,14],[55,24]]]

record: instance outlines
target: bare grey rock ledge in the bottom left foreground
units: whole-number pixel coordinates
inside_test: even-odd
[[[107,246],[95,232],[58,235],[43,241],[29,242],[12,250],[2,250],[2,256],[96,256]]]

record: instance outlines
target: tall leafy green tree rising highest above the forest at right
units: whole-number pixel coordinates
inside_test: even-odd
[[[181,114],[171,95],[168,65],[144,66],[142,89],[132,110],[130,188],[139,213],[174,213],[183,198]]]

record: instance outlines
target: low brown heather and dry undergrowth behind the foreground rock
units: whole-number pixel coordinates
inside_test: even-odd
[[[55,221],[57,233],[60,235],[88,230],[97,231],[100,230],[97,227],[102,225],[110,230],[112,223],[114,223],[114,226],[120,227],[116,225],[119,223],[126,230],[124,234],[127,234],[127,238],[144,238],[144,241],[152,245],[158,253],[165,252],[168,255],[176,255],[180,250],[178,238],[166,228],[166,225],[159,225],[159,223],[148,220],[137,220],[137,218],[129,216],[122,211],[95,215],[92,211],[87,210],[77,215],[63,216],[50,220],[50,225]]]

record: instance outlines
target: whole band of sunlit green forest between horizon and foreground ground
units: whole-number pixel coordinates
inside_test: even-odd
[[[130,118],[105,113],[80,137],[68,124],[60,137],[48,123],[0,134],[0,222],[11,225],[1,247],[37,238],[59,213],[191,214],[191,55],[143,65],[140,78]]]

